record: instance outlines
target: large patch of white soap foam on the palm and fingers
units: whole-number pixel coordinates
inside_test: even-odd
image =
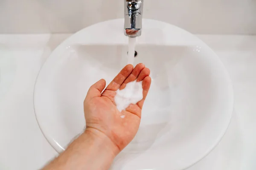
[[[128,82],[124,89],[117,90],[114,100],[118,111],[125,110],[130,104],[136,104],[143,99],[142,81]]]

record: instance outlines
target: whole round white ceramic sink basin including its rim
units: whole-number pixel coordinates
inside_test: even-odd
[[[109,83],[125,65],[122,19],[82,29],[61,43],[38,75],[38,124],[59,153],[85,126],[83,100],[99,79]],[[224,135],[233,111],[230,78],[216,54],[194,35],[143,20],[135,63],[151,70],[140,129],[113,170],[181,170],[206,156]]]

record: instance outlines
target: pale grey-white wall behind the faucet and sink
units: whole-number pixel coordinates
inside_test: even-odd
[[[124,0],[0,0],[0,33],[70,33],[122,18]],[[144,18],[195,34],[256,34],[256,0],[145,0]]]

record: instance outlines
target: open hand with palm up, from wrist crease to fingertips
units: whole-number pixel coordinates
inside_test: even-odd
[[[139,129],[141,110],[151,84],[149,74],[150,70],[142,63],[135,68],[126,65],[105,91],[106,81],[101,79],[90,87],[84,99],[86,131],[110,139],[117,153],[131,142]],[[128,82],[136,79],[143,81],[143,99],[120,113],[114,102],[116,90],[122,90]],[[121,115],[125,115],[125,118],[122,119]]]

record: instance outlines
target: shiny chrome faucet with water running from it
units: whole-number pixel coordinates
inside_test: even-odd
[[[125,0],[125,35],[138,37],[142,29],[144,0]]]

